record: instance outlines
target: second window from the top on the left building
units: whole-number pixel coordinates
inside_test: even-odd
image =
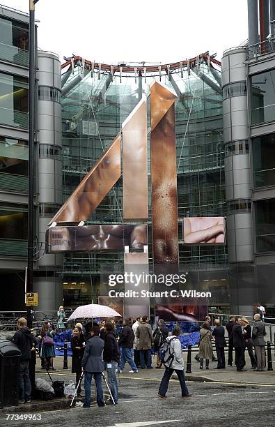
[[[28,79],[0,73],[0,121],[8,126],[28,128]]]

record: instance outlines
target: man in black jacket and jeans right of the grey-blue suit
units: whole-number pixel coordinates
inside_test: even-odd
[[[118,382],[116,380],[116,370],[118,368],[118,362],[120,359],[120,351],[118,347],[118,341],[116,340],[116,334],[114,333],[114,324],[107,322],[105,325],[105,345],[103,351],[103,360],[107,368],[108,382],[113,395],[115,404],[118,404]],[[109,398],[105,403],[111,405],[113,400]]]

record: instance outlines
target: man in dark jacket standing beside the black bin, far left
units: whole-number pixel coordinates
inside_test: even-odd
[[[31,380],[29,378],[29,360],[33,347],[33,335],[26,327],[26,319],[20,317],[17,322],[18,331],[13,336],[13,343],[21,352],[19,370],[19,403],[31,402]]]

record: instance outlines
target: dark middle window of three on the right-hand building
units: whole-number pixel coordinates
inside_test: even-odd
[[[252,140],[254,186],[275,185],[275,133]]]

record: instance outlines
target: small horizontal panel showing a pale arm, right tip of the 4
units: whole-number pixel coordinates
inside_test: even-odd
[[[183,244],[225,245],[225,218],[223,216],[183,218]]]

